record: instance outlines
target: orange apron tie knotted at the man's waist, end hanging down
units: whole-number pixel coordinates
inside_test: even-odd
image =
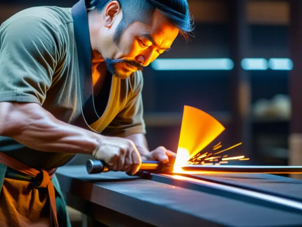
[[[21,173],[27,174],[31,177],[34,177],[38,181],[39,188],[47,188],[48,189],[48,195],[49,195],[49,201],[50,201],[50,221],[53,219],[55,227],[59,227],[58,223],[58,217],[56,212],[56,196],[55,196],[55,189],[53,187],[53,183],[51,181],[51,177],[49,173],[45,170],[38,171],[37,169],[33,169],[24,163],[19,162],[18,160],[6,155],[3,152],[0,152],[0,163],[4,164],[5,166],[8,166],[11,169],[14,169],[16,171],[19,171]],[[54,172],[53,172],[54,174]],[[52,175],[53,175],[52,174]]]

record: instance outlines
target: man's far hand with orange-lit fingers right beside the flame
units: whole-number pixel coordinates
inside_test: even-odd
[[[159,146],[155,150],[143,154],[142,156],[143,161],[160,161],[162,163],[174,163],[176,154],[170,150],[165,149],[163,146]]]

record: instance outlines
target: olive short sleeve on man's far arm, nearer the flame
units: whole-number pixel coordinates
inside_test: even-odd
[[[143,74],[141,71],[136,72],[132,86],[133,92],[128,97],[125,107],[104,130],[104,134],[118,137],[127,137],[136,133],[146,134],[143,119]]]

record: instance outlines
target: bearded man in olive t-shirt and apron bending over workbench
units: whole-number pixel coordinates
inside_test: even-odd
[[[54,173],[77,153],[132,174],[175,157],[148,150],[141,70],[191,30],[186,0],[81,0],[1,25],[1,226],[70,226]]]

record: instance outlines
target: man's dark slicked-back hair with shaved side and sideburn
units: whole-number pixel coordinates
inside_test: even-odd
[[[101,11],[112,0],[86,0],[88,10]],[[125,28],[134,21],[149,24],[155,9],[162,12],[169,21],[180,30],[183,37],[193,31],[193,17],[189,12],[187,0],[117,0],[123,10],[123,18],[117,26],[113,41],[119,44],[120,36]]]

